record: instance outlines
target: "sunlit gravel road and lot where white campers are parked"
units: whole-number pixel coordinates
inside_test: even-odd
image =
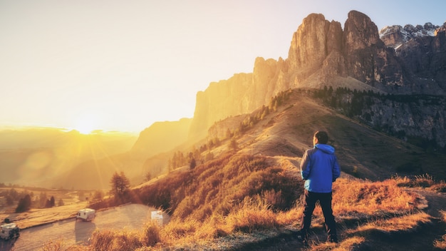
[[[140,229],[151,219],[155,208],[145,205],[129,204],[96,212],[92,222],[75,220],[74,218],[30,227],[21,230],[16,240],[0,240],[1,251],[39,250],[42,245],[51,240],[63,240],[66,246],[81,245],[88,241],[94,230],[101,229]],[[163,214],[163,222],[168,222],[169,216]]]

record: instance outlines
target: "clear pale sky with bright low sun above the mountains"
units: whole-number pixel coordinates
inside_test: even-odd
[[[287,58],[302,20],[442,25],[446,1],[0,0],[0,126],[128,130],[192,118],[209,83]]]

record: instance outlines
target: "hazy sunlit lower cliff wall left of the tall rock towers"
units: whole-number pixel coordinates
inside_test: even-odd
[[[207,135],[207,129],[216,121],[229,116],[250,113],[269,102],[281,90],[291,88],[287,81],[287,64],[279,58],[256,58],[253,73],[237,73],[219,82],[210,83],[205,91],[197,93],[191,138]]]

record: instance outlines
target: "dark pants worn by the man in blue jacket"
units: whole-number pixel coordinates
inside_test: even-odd
[[[331,240],[338,240],[336,235],[336,221],[331,210],[331,193],[313,193],[305,190],[304,200],[304,215],[301,222],[301,234],[306,237],[311,225],[311,216],[316,207],[316,201],[319,200],[325,218],[325,227],[328,233],[328,238]]]

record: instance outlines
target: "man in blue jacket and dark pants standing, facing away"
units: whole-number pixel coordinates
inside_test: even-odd
[[[305,151],[301,161],[301,175],[305,180],[304,215],[301,221],[299,239],[308,245],[308,230],[311,225],[311,215],[316,201],[321,204],[325,227],[329,242],[338,242],[336,221],[331,209],[331,187],[336,178],[341,175],[335,149],[328,143],[328,134],[317,131],[313,136],[313,148]]]

